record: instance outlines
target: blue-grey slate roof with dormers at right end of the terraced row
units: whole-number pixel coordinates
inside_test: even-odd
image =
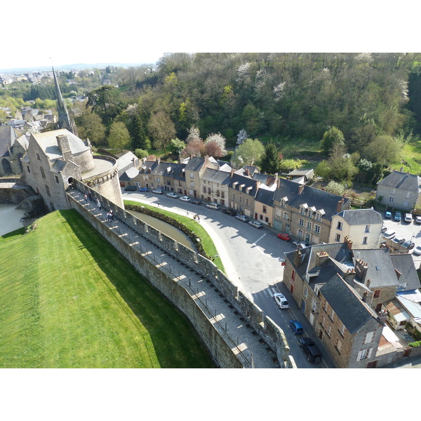
[[[300,189],[302,192],[300,194]],[[331,220],[338,208],[338,201],[344,200],[343,207],[349,207],[350,201],[346,197],[338,196],[324,192],[323,190],[314,189],[314,187],[302,186],[290,180],[280,179],[279,187],[275,190],[274,201],[281,201],[283,197],[288,198],[287,204],[293,208],[300,208],[300,205],[307,203],[311,208],[314,206],[316,210],[324,210],[323,219]]]

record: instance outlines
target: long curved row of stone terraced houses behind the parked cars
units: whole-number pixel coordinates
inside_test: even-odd
[[[216,202],[310,243],[327,242],[333,215],[350,206],[345,197],[277,174],[262,174],[255,166],[235,171],[228,163],[208,156],[192,156],[177,163],[144,159],[139,170],[133,166],[121,175],[120,185],[163,189]]]

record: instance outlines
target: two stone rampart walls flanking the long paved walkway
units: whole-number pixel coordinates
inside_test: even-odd
[[[134,215],[126,213],[123,208],[116,206],[104,197],[100,197],[98,192],[86,187],[83,183],[75,181],[76,187],[81,192],[91,192],[93,198],[99,197],[102,207],[112,209],[114,214],[123,223],[134,229],[144,239],[154,243],[154,245],[168,252],[173,258],[180,260],[194,271],[202,274],[215,288],[218,288],[225,299],[238,311],[246,323],[250,323],[256,332],[268,343],[278,356],[281,366],[292,368],[292,359],[289,358],[289,346],[285,335],[279,326],[267,317],[263,318],[262,310],[251,302],[246,295],[238,290],[236,286],[223,274],[213,262],[196,253],[194,250],[178,243],[170,237],[162,234],[158,230],[150,227],[145,222],[138,220]],[[100,220],[95,218],[89,210],[81,206],[69,196],[69,204],[75,208],[109,243],[131,262],[135,269],[145,276],[149,282],[160,290],[163,295],[176,305],[193,323],[197,333],[208,347],[215,361],[221,367],[236,368],[247,366],[238,353],[232,350],[232,344],[224,339],[224,334],[218,330],[218,326],[212,323],[206,316],[207,309],[201,305],[200,300],[194,299],[194,293],[188,290],[188,286],[178,281],[173,274],[166,272],[163,267],[156,265],[146,255],[142,255],[133,246],[130,246],[123,236],[119,236],[115,231],[110,230]]]

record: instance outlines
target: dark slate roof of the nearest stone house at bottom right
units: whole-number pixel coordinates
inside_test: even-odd
[[[338,274],[320,288],[320,293],[351,334],[356,333],[370,319],[376,319],[375,313]]]

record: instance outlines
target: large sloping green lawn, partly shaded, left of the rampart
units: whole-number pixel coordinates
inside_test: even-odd
[[[74,210],[0,242],[0,368],[208,368],[189,321]]]

